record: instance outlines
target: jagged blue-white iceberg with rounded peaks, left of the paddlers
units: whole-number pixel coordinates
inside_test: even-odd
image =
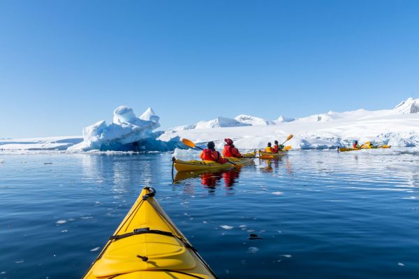
[[[148,108],[140,117],[136,117],[133,109],[127,106],[117,107],[113,114],[110,124],[102,120],[85,127],[82,143],[68,150],[145,150],[145,145],[152,149],[152,142],[160,135],[153,132],[160,127],[160,117],[152,108]]]

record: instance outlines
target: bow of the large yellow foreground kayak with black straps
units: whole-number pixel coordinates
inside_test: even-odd
[[[84,279],[216,278],[145,187]]]

